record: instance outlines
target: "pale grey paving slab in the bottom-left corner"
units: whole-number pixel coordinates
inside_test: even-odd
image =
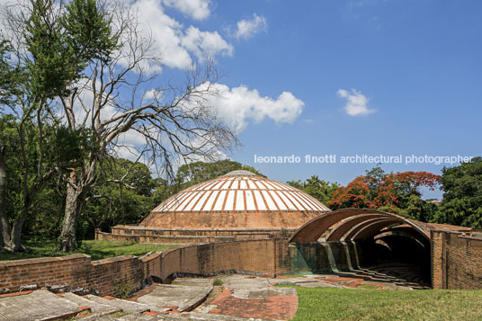
[[[29,294],[0,299],[0,320],[50,320],[73,317],[82,309],[48,290],[34,290]]]

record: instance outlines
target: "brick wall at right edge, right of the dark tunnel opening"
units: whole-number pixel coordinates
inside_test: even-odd
[[[433,289],[482,289],[482,239],[432,231]]]

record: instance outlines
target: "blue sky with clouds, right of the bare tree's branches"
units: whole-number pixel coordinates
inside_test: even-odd
[[[274,180],[346,184],[376,164],[255,164],[254,155],[482,154],[480,1],[135,3],[161,43],[161,78],[182,72],[188,55],[216,59],[226,96],[211,103],[243,144],[228,156]],[[443,165],[382,168],[440,174]]]

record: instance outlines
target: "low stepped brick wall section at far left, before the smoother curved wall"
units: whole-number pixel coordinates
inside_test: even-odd
[[[114,293],[118,283],[129,282],[138,289],[150,275],[159,275],[159,254],[142,258],[117,256],[91,262],[85,254],[0,262],[0,293],[22,286],[81,288],[101,295]]]

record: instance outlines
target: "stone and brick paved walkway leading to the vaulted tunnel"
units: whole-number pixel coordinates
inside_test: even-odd
[[[289,320],[298,308],[295,289],[302,287],[412,290],[408,281],[382,272],[362,271],[279,277],[219,276],[222,287],[213,291],[212,279],[180,278],[154,284],[125,300],[74,293],[33,290],[0,295],[0,321],[54,320]]]

